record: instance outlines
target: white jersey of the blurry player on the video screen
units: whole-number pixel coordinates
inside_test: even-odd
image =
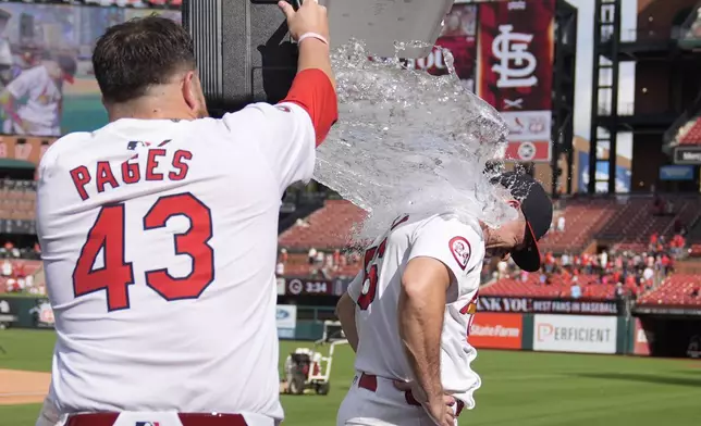
[[[49,70],[41,64],[22,72],[7,87],[13,98],[20,100],[27,97],[25,104],[17,109],[17,115],[25,125],[24,131],[36,136],[60,135],[61,87],[49,75]],[[15,128],[15,131],[20,128]]]

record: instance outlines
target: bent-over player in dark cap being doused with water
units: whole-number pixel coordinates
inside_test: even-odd
[[[455,215],[403,215],[365,252],[364,271],[337,305],[357,374],[337,425],[453,426],[480,386],[468,343],[485,254],[540,268],[537,241],[552,202],[527,175],[506,173],[518,218],[499,228]]]

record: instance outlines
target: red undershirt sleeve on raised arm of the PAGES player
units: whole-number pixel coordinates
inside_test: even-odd
[[[307,111],[317,135],[317,147],[339,120],[336,91],[329,76],[321,70],[309,68],[297,73],[287,97],[281,102],[292,102]]]

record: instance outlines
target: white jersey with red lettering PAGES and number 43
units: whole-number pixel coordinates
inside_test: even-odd
[[[278,215],[313,163],[294,103],[119,120],[52,145],[37,220],[59,410],[281,418]]]

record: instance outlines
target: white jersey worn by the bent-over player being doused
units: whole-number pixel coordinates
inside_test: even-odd
[[[365,252],[365,271],[348,287],[348,295],[356,301],[359,337],[355,367],[377,376],[414,379],[399,339],[402,312],[397,306],[402,275],[415,258],[436,259],[454,276],[441,334],[441,381],[470,409],[475,405],[472,392],[480,386],[479,376],[470,367],[477,351],[467,341],[484,259],[477,221],[469,226],[451,215],[401,216]]]

